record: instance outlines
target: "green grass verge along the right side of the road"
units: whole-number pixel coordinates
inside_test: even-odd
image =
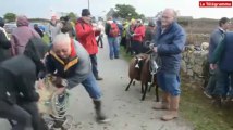
[[[131,55],[121,48],[121,55],[130,62]],[[182,75],[180,114],[195,130],[233,130],[233,105],[219,108],[203,94],[200,84]]]

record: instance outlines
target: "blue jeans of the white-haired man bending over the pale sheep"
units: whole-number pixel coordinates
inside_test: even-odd
[[[89,76],[81,83],[84,86],[91,99],[99,100],[101,98],[100,88],[97,84],[96,78],[94,77],[93,73],[90,73]]]

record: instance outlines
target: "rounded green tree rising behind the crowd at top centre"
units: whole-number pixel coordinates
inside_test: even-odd
[[[145,17],[143,14],[138,14],[136,12],[136,9],[132,5],[126,5],[126,4],[116,4],[115,5],[116,14],[121,18],[143,18]]]

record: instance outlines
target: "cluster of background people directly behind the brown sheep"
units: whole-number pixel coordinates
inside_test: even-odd
[[[126,53],[135,55],[149,51],[147,43],[154,40],[156,24],[150,21],[146,26],[142,20],[132,18],[130,24],[123,23],[121,31],[120,44],[124,47]]]

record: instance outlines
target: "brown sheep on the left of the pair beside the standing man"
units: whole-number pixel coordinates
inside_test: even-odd
[[[130,67],[128,67],[128,77],[131,81],[128,82],[125,91],[127,91],[132,84],[132,82],[135,80],[140,81],[140,73],[143,69],[143,64],[145,60],[148,57],[148,54],[137,54],[135,57],[133,57],[130,62]],[[138,67],[136,67],[136,65]],[[144,88],[142,86],[142,93],[144,93]]]

